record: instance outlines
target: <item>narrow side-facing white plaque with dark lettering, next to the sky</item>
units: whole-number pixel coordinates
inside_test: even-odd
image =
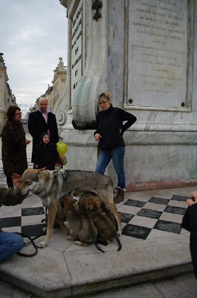
[[[73,15],[71,33],[71,97],[73,98],[82,76],[82,0]]]

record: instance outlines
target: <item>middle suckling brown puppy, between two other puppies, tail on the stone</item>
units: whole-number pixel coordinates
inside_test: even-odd
[[[75,241],[75,244],[87,246],[88,242],[93,242],[99,251],[104,252],[97,244],[98,232],[90,215],[87,195],[83,195],[77,204],[81,212],[81,230],[79,232],[81,241]]]

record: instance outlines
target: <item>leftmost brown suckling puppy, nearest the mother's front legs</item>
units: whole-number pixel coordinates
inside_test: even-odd
[[[79,232],[81,230],[81,213],[79,206],[76,204],[77,200],[73,199],[74,190],[70,196],[64,196],[60,201],[62,212],[66,216],[70,227],[70,236],[68,240],[79,240]]]

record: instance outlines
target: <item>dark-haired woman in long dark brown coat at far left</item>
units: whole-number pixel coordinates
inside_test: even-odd
[[[10,106],[2,128],[2,163],[8,187],[13,187],[13,173],[21,176],[27,169],[26,147],[31,141],[25,138],[21,115],[19,107]]]

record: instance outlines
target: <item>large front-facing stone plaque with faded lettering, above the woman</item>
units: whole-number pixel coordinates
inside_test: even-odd
[[[186,105],[187,30],[187,0],[128,1],[127,105]]]

